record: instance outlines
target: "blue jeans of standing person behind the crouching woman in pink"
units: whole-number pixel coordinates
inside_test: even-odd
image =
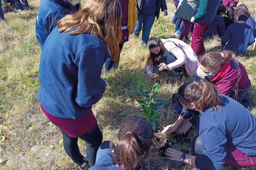
[[[139,36],[139,33],[142,30],[142,44],[147,44],[154,21],[155,21],[155,13],[148,16],[144,16],[143,14],[138,13],[134,34],[135,36]],[[143,23],[143,27],[142,27],[142,23]]]

